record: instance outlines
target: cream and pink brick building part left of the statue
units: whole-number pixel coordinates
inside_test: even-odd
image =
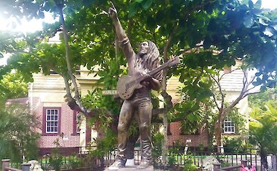
[[[64,101],[64,80],[60,75],[33,75],[34,82],[30,83],[28,90],[28,104],[30,111],[39,120],[41,134],[37,144],[39,154],[50,153],[59,144],[63,154],[78,152],[79,147],[90,141],[91,131],[84,126],[80,129],[82,117],[72,111]],[[79,124],[78,124],[79,123]],[[80,139],[84,136],[84,143]]]

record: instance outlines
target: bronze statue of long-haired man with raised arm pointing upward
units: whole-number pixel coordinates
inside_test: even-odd
[[[114,27],[116,28],[118,43],[127,58],[129,67],[128,75],[148,75],[148,71],[159,66],[160,60],[157,46],[151,41],[145,41],[139,46],[139,53],[134,53],[129,39],[120,24],[114,6],[109,8],[109,15],[114,23]],[[119,170],[120,168],[125,167],[128,129],[134,114],[138,115],[137,118],[142,147],[142,161],[137,168],[144,169],[152,166],[150,133],[152,102],[150,91],[151,89],[158,90],[161,87],[161,79],[162,71],[152,76],[148,75],[147,79],[141,82],[141,88],[136,89],[131,98],[124,100],[118,120],[118,153],[116,161],[109,167],[109,170]]]

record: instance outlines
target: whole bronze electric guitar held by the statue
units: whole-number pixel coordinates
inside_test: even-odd
[[[168,60],[166,64],[163,64],[156,69],[153,69],[152,71],[148,72],[148,75],[152,76],[155,73],[158,73],[159,71],[165,69],[166,67],[175,66],[176,64],[179,64],[180,60],[179,57],[174,57],[171,60]],[[123,75],[118,79],[117,82],[117,92],[118,96],[122,98],[123,100],[127,100],[132,97],[135,89],[141,89],[141,81],[148,78],[147,75],[139,75],[139,76],[130,76],[130,75]]]

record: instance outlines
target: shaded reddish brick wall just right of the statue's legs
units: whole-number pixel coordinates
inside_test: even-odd
[[[181,123],[175,122],[170,123],[170,135],[168,135],[168,145],[173,146],[175,142],[181,143],[181,145],[186,145],[186,140],[190,139],[191,143],[188,144],[189,147],[199,147],[199,144],[203,144],[204,147],[208,147],[208,132],[204,130],[202,134],[181,134]]]

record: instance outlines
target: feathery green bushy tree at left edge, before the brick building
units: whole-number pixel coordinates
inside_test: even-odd
[[[0,159],[37,159],[38,122],[25,105],[12,104],[0,109]]]

